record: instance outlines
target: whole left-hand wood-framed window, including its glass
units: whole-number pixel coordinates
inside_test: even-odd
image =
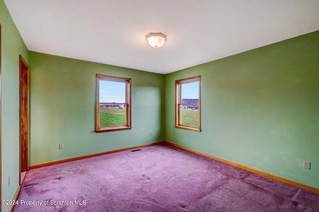
[[[97,74],[95,131],[131,128],[131,79]]]

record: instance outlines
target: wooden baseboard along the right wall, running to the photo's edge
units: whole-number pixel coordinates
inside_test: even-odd
[[[208,154],[205,154],[205,153],[202,153],[202,152],[198,152],[196,150],[193,150],[193,149],[190,149],[190,148],[187,148],[187,147],[175,144],[175,143],[171,143],[169,141],[164,141],[164,143],[166,143],[168,145],[171,145],[171,146],[178,147],[180,149],[183,149],[183,150],[186,150],[186,151],[189,151],[189,152],[193,152],[193,153],[198,154],[198,155],[202,155],[202,156],[207,157],[207,158],[211,158],[213,160],[217,160],[217,161],[222,162],[222,163],[226,163],[226,164],[238,167],[240,169],[244,169],[246,171],[249,171],[249,172],[252,172],[252,173],[255,173],[255,174],[259,174],[259,175],[268,177],[270,179],[273,179],[273,180],[288,184],[290,186],[294,186],[294,187],[297,187],[297,188],[300,188],[300,189],[304,189],[304,190],[313,192],[315,194],[319,194],[319,189],[307,186],[305,184],[301,184],[301,183],[298,183],[298,182],[295,182],[295,181],[292,181],[292,180],[288,180],[286,178],[282,178],[282,177],[279,177],[277,175],[269,174],[267,172],[260,171],[260,170],[254,169],[254,168],[250,168],[248,166],[244,166],[244,165],[241,165],[239,163],[235,163],[235,162],[232,162],[232,161],[229,161],[229,160],[226,160],[226,159],[223,159],[223,158],[219,158],[219,157],[216,157],[216,156],[213,156],[213,155],[208,155]]]

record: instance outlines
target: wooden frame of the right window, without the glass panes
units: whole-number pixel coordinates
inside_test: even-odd
[[[181,101],[181,85],[183,83],[198,82],[198,104],[195,103],[182,103]],[[201,132],[201,108],[200,108],[200,76],[189,77],[175,81],[175,127],[195,132]],[[186,125],[180,122],[180,107],[181,105],[198,105],[198,126]]]

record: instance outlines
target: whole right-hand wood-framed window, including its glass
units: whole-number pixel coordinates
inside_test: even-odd
[[[200,132],[200,76],[175,81],[175,127]]]

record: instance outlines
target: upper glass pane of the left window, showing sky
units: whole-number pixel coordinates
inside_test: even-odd
[[[100,103],[125,103],[125,82],[99,80]]]

